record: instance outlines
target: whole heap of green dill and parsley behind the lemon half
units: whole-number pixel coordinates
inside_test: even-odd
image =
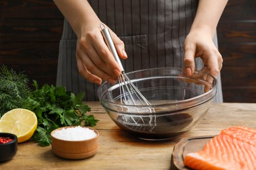
[[[86,113],[91,108],[83,102],[84,93],[75,95],[63,86],[45,84],[29,88],[29,78],[23,73],[0,67],[0,118],[9,110],[22,108],[35,112],[37,129],[33,141],[41,146],[51,144],[51,131],[64,126],[96,126],[98,120]]]

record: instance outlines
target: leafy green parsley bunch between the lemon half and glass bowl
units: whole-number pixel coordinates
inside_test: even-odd
[[[83,103],[84,93],[69,92],[62,86],[45,84],[41,89],[33,80],[35,90],[30,95],[33,103],[31,110],[37,115],[37,129],[33,140],[41,146],[51,144],[51,131],[63,126],[95,126],[96,120],[91,114],[91,108]]]

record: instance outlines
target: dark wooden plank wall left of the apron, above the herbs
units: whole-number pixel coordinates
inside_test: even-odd
[[[0,0],[0,63],[55,84],[62,25],[52,0]]]

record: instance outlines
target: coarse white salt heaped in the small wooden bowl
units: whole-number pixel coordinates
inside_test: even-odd
[[[53,133],[54,137],[66,141],[83,141],[92,139],[96,135],[94,130],[81,126],[62,128]]]

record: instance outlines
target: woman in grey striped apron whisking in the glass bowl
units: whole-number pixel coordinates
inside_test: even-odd
[[[62,12],[57,84],[86,101],[98,100],[102,80],[114,84],[120,68],[100,33],[106,24],[125,72],[183,67],[191,76],[203,69],[218,78],[216,102],[223,102],[215,30],[227,0],[54,0]],[[128,57],[128,59],[127,59]]]

